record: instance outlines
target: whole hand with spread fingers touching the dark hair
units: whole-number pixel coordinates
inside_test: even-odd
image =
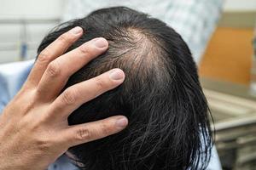
[[[20,92],[3,110],[0,170],[46,169],[68,148],[118,133],[127,126],[125,116],[68,125],[67,116],[80,105],[125,80],[123,71],[113,69],[61,93],[74,72],[108,49],[107,40],[98,37],[65,54],[82,34],[83,29],[75,27],[45,48]]]

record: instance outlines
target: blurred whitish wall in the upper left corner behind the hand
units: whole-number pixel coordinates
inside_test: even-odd
[[[61,18],[61,0],[1,0],[0,63],[34,58],[38,43]],[[26,47],[23,47],[25,44]],[[22,54],[27,48],[27,54]]]

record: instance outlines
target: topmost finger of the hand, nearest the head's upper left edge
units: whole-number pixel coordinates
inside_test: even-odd
[[[69,48],[73,42],[77,41],[82,34],[83,29],[77,26],[62,34],[61,37],[58,37],[54,42],[49,44],[49,46],[38,55],[38,59],[27,78],[26,84],[37,86],[49,63],[65,53],[67,48]]]

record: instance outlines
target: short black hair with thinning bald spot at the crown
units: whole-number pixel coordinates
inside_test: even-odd
[[[126,78],[73,111],[69,124],[119,114],[129,119],[121,133],[69,149],[81,168],[205,169],[212,147],[207,99],[183,38],[166,23],[131,8],[102,8],[57,26],[44,37],[38,54],[75,26],[85,33],[67,51],[95,37],[106,38],[109,48],[76,72],[65,88],[113,68],[122,69]]]

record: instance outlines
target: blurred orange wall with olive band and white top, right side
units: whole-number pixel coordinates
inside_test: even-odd
[[[255,0],[228,0],[201,59],[201,77],[248,85],[253,65]]]

